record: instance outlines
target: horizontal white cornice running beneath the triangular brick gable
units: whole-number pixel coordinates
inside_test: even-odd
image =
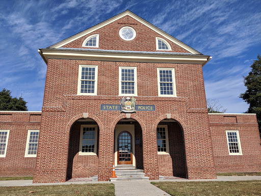
[[[189,54],[146,54],[127,53],[113,51],[83,51],[62,49],[41,49],[40,54],[44,61],[48,59],[76,59],[76,60],[100,60],[100,61],[128,61],[128,62],[155,62],[155,63],[189,63],[204,64],[209,56]]]

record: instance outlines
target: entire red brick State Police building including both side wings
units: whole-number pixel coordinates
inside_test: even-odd
[[[132,12],[39,53],[42,111],[0,112],[0,176],[108,181],[113,164],[150,180],[261,171],[255,114],[207,113],[211,57]]]

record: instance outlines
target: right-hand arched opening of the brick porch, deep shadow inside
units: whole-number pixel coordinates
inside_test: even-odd
[[[184,131],[175,119],[162,119],[156,127],[159,174],[188,178]]]

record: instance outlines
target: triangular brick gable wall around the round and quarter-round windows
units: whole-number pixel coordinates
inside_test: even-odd
[[[132,27],[136,31],[136,38],[131,41],[126,41],[120,38],[119,31],[122,27]],[[84,40],[90,35],[99,34],[99,47],[82,47]],[[91,48],[100,50],[120,50],[120,51],[147,51],[147,52],[157,52],[156,51],[156,39],[155,37],[160,37],[166,40],[172,51],[158,51],[158,52],[175,52],[175,53],[189,53],[184,50],[184,48],[178,46],[177,44],[167,40],[160,34],[152,31],[144,24],[138,22],[131,16],[124,16],[107,26],[100,28],[86,36],[76,39],[62,47],[70,48]]]

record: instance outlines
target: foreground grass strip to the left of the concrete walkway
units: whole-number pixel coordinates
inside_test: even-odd
[[[34,191],[33,193],[29,193]],[[114,184],[70,184],[52,186],[2,186],[0,195],[88,195],[114,196]]]

